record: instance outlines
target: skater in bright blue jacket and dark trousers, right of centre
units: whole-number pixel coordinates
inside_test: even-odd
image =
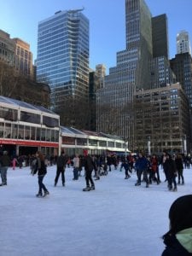
[[[135,186],[141,185],[141,177],[143,174],[143,179],[146,182],[146,188],[148,188],[148,160],[144,156],[142,152],[139,153],[139,156],[136,161],[135,168],[137,170],[137,183],[135,183]]]

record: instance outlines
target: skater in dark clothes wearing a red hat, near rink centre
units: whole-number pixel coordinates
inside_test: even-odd
[[[86,188],[83,191],[90,191],[95,189],[95,184],[91,177],[91,173],[93,170],[96,170],[96,165],[94,160],[92,160],[91,156],[88,154],[88,150],[84,149],[84,171],[85,171],[85,181]]]

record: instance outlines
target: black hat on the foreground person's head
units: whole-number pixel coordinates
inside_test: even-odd
[[[172,234],[192,228],[192,195],[178,197],[169,210]]]

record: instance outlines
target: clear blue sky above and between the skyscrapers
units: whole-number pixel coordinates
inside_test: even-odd
[[[37,56],[38,21],[58,10],[81,9],[90,20],[90,67],[116,65],[116,53],[125,49],[125,0],[6,0],[1,1],[0,29],[21,38]],[[192,0],[146,0],[153,16],[168,17],[170,58],[176,54],[177,32],[186,30],[192,41]]]

